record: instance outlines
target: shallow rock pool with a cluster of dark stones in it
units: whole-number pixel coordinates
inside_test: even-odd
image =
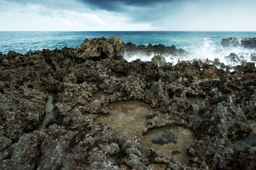
[[[169,135],[169,136],[166,136]],[[170,135],[171,134],[171,135]],[[172,138],[170,139],[170,136]],[[158,144],[156,141],[164,140],[164,144]],[[181,164],[188,162],[188,146],[194,141],[195,136],[192,131],[184,127],[163,127],[154,129],[142,138],[139,138],[141,145],[148,148],[154,148],[159,155],[173,157]]]

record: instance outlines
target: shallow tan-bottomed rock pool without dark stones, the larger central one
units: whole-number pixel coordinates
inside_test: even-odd
[[[147,127],[147,113],[152,111],[149,104],[142,101],[122,101],[109,104],[108,115],[98,115],[97,122],[106,123],[114,138],[127,133],[142,136]]]

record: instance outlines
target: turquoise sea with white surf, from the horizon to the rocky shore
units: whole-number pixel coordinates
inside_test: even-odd
[[[10,50],[26,53],[29,50],[36,51],[42,49],[54,50],[64,46],[76,48],[81,45],[84,39],[92,39],[100,36],[109,38],[116,36],[124,40],[124,43],[134,43],[136,45],[163,44],[165,46],[175,45],[183,48],[189,55],[186,56],[164,56],[167,62],[176,64],[179,60],[214,60],[234,66],[243,61],[255,62],[252,55],[256,49],[246,49],[241,46],[234,48],[223,48],[221,39],[223,38],[256,38],[256,32],[205,32],[205,31],[0,31],[0,52],[8,53]],[[228,59],[230,53],[236,53],[241,59]],[[141,55],[140,53],[124,58],[131,62],[141,59],[150,61],[152,55]]]

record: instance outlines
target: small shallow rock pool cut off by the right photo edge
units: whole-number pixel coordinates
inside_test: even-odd
[[[236,150],[244,150],[246,147],[250,147],[254,141],[256,141],[256,122],[252,122],[249,124],[252,128],[252,132],[248,135],[246,139],[240,139],[239,141],[235,141],[234,145]]]

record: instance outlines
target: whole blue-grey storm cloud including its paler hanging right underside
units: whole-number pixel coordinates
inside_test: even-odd
[[[189,0],[76,0],[91,10],[106,10],[130,18],[130,22],[154,22],[175,12],[173,3]],[[191,0],[196,1],[196,0]]]

